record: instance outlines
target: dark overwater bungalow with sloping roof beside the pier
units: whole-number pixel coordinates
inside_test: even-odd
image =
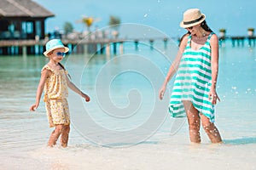
[[[44,39],[45,20],[53,16],[55,14],[32,0],[1,0],[0,41]],[[0,54],[9,54],[9,50],[1,44]]]

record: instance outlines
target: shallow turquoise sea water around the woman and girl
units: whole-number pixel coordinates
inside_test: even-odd
[[[154,49],[150,50],[145,42],[140,43],[136,51],[133,42],[126,42],[124,54],[71,54],[64,59],[62,63],[73,82],[91,97],[90,103],[85,103],[70,93],[73,124],[67,149],[45,147],[53,129],[48,126],[43,101],[38,111],[29,112],[40,71],[48,60],[43,56],[0,57],[0,162],[3,168],[16,169],[26,163],[24,169],[38,166],[57,169],[63,165],[101,169],[100,164],[112,169],[125,166],[155,169],[155,165],[163,163],[186,168],[193,167],[190,163],[199,157],[205,159],[206,164],[211,159],[211,163],[218,163],[223,169],[255,168],[256,49],[233,48],[230,42],[220,48],[218,95],[221,102],[216,107],[216,124],[225,144],[211,145],[201,132],[202,144],[191,146],[186,122],[179,130],[183,121],[176,122],[177,133],[170,135],[174,121],[166,110],[169,93],[166,92],[166,99],[161,102],[157,96],[177,53],[176,45],[168,42],[164,48],[163,42],[155,42]],[[170,90],[172,82],[173,79]],[[212,159],[210,155],[218,157]],[[247,160],[242,158],[245,155]],[[183,163],[181,157],[190,161]]]

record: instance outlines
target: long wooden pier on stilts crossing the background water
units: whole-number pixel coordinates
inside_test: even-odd
[[[174,41],[178,39],[172,38]],[[98,39],[98,40],[67,40],[61,41],[71,49],[73,54],[123,54],[124,42],[134,42],[135,49],[138,50],[139,42],[148,42],[150,49],[154,49],[154,41],[162,40],[164,47],[167,47],[169,38],[141,38],[141,39]],[[256,37],[219,37],[220,47],[230,40],[232,47],[243,47],[247,41],[247,46],[255,47]],[[0,40],[0,55],[42,55],[45,51],[45,43],[48,40]],[[111,50],[110,47],[113,47]],[[119,49],[117,48],[119,47]]]

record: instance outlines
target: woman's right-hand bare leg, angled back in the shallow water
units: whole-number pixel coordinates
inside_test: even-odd
[[[201,124],[204,127],[209,139],[211,139],[212,143],[222,142],[218,128],[215,127],[213,122],[210,122],[207,116],[201,115]]]

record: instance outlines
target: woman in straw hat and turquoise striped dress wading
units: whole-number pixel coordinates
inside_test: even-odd
[[[217,103],[218,37],[207,26],[206,15],[198,8],[190,8],[183,14],[180,26],[185,34],[177,57],[172,63],[165,82],[160,88],[160,99],[166,85],[177,72],[169,111],[173,117],[187,116],[192,143],[201,143],[200,125],[204,127],[212,143],[222,139],[214,125],[214,105]]]

